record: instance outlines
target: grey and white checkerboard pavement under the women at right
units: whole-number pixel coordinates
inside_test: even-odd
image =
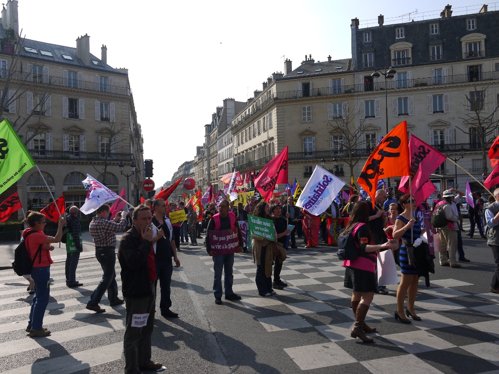
[[[206,255],[200,258],[213,264]],[[319,342],[289,340],[284,351],[301,370],[341,365],[341,372],[349,366],[358,371],[360,363],[366,373],[499,373],[499,295],[482,287],[430,277],[427,288],[422,278],[415,306],[422,321],[405,325],[393,315],[397,285],[387,286],[389,295],[375,295],[366,317],[378,329],[368,334],[375,343],[364,344],[350,337],[351,290],[343,287],[344,268],[334,249],[289,250],[281,272],[289,287],[275,296],[258,296],[254,276],[251,253],[236,254],[234,292],[258,312],[262,331],[283,334],[284,340],[290,336],[285,332],[312,331],[312,341]]]

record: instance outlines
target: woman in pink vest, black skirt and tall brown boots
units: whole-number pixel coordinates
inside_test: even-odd
[[[369,229],[369,204],[365,201],[359,201],[353,207],[350,221],[340,234],[344,235],[353,236],[359,251],[354,260],[343,261],[344,287],[353,290],[350,303],[355,315],[355,325],[350,335],[352,338],[360,338],[364,343],[371,343],[373,339],[367,337],[365,333],[373,333],[376,328],[367,326],[364,319],[376,292],[376,253],[392,249],[392,246],[389,242],[374,244]]]

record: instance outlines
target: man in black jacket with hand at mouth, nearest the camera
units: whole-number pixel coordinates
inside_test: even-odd
[[[151,217],[149,206],[137,206],[132,214],[133,226],[121,237],[118,249],[126,303],[123,338],[125,374],[137,374],[142,369],[156,371],[163,366],[151,361],[151,335],[156,312],[156,265]]]

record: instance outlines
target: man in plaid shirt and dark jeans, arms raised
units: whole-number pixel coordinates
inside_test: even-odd
[[[113,220],[108,220],[109,205],[107,204],[102,204],[95,212],[96,216],[90,222],[89,231],[95,245],[95,257],[99,261],[104,274],[97,288],[90,296],[86,308],[96,313],[103,313],[106,310],[99,306],[99,302],[106,290],[109,306],[113,307],[124,303],[123,299],[118,298],[118,284],[116,283],[116,272],[114,271],[116,253],[114,250],[116,248],[115,232],[125,230],[128,213],[122,211],[121,218],[116,214]]]

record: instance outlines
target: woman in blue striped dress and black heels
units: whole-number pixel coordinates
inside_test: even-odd
[[[424,232],[421,229],[418,220],[414,216],[416,211],[416,199],[411,195],[403,195],[399,198],[397,205],[399,215],[395,220],[395,227],[393,228],[393,238],[403,238],[408,243],[414,243]],[[411,230],[412,228],[412,230]],[[411,235],[412,232],[412,235]],[[404,316],[404,301],[407,295],[407,309],[405,314],[407,317],[412,317],[415,321],[421,321],[421,318],[414,312],[414,302],[418,294],[419,272],[414,266],[409,265],[407,255],[407,248],[405,245],[400,247],[400,268],[402,270],[402,281],[397,289],[397,311],[395,312],[395,319],[400,319],[400,322],[411,323],[411,321]]]

